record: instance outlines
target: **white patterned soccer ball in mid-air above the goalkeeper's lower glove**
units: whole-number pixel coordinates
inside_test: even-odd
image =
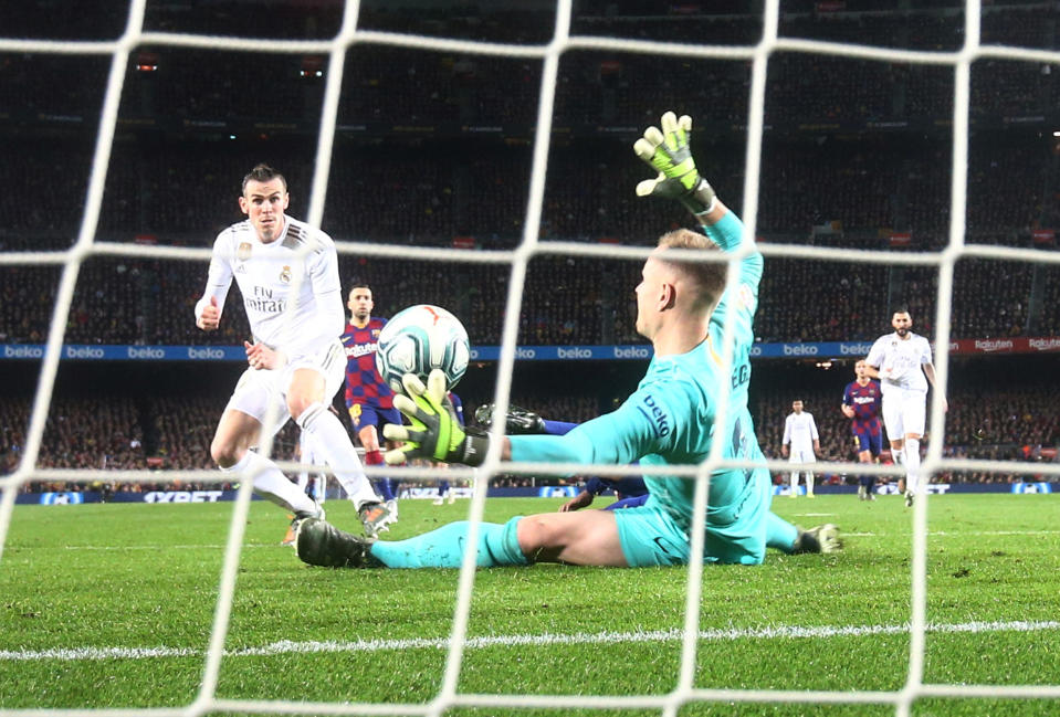
[[[376,370],[396,393],[405,393],[401,377],[416,373],[423,383],[433,369],[445,373],[445,388],[452,390],[471,359],[468,331],[460,319],[430,304],[402,309],[379,331]]]

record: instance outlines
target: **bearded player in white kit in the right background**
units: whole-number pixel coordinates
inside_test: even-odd
[[[904,491],[905,505],[911,506],[920,491],[920,442],[924,437],[927,381],[935,387],[935,366],[931,344],[911,330],[909,310],[895,309],[891,326],[894,333],[878,338],[869,350],[865,375],[880,379],[891,455],[905,466],[905,481],[899,481],[899,489]],[[943,405],[948,408],[945,398]]]

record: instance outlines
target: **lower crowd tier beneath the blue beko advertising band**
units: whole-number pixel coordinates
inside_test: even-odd
[[[984,362],[1000,361],[996,367]],[[1000,369],[1000,371],[998,370]],[[190,376],[193,368],[183,369]],[[543,371],[544,368],[538,368]],[[1021,371],[1018,359],[963,359],[954,366],[953,388],[947,399],[944,454],[947,456],[999,461],[1054,461],[1060,449],[1060,410],[1052,400],[1048,378],[1022,376],[1009,384],[990,387],[999,372]],[[575,371],[577,373],[577,371]],[[805,371],[802,372],[805,375]],[[759,378],[760,376],[760,378]],[[784,419],[791,402],[801,399],[820,431],[821,461],[856,460],[850,423],[839,411],[846,373],[819,372],[811,381],[791,380],[783,362],[756,369],[752,392],[752,413],[767,457],[780,460]],[[541,384],[535,391],[519,388],[519,371],[512,403],[538,411],[547,418],[580,422],[611,410],[623,396],[626,379],[608,375],[595,380],[577,376]],[[174,386],[190,380],[179,376]],[[539,382],[534,379],[534,382]],[[547,383],[547,382],[545,382]],[[473,423],[475,409],[492,401],[492,383],[474,382],[461,387],[464,414]],[[199,390],[175,390],[172,386],[155,393],[143,390],[123,392],[119,388],[81,388],[70,393],[56,391],[49,410],[38,465],[45,468],[157,470],[157,484],[117,484],[115,489],[147,491],[174,482],[186,487],[203,487],[181,481],[181,471],[211,470],[209,446],[217,415],[227,394]],[[4,397],[0,401],[0,471],[14,471],[25,446],[31,401],[25,396]],[[342,412],[345,421],[345,412]],[[925,437],[924,445],[933,436]],[[297,430],[288,423],[277,435],[275,455],[294,460]],[[841,476],[831,476],[839,481]],[[935,482],[1010,482],[1014,474],[959,473],[935,476]],[[555,478],[552,479],[554,482]],[[525,479],[513,478],[512,483]],[[25,489],[41,489],[39,482]],[[46,485],[50,489],[82,489],[76,482]]]

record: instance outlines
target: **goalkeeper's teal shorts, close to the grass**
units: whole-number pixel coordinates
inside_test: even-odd
[[[768,493],[752,495],[741,506],[739,517],[727,525],[709,525],[703,562],[759,565],[766,557]],[[631,568],[688,565],[688,534],[663,508],[655,495],[639,508],[615,512],[618,538]]]

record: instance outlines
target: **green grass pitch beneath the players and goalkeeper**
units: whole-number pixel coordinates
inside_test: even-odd
[[[486,519],[558,505],[491,499]],[[465,518],[466,506],[406,500],[392,537]],[[328,508],[337,525],[356,525],[347,503]],[[706,568],[695,687],[900,690],[909,666],[903,626],[910,620],[912,512],[898,497],[865,504],[849,495],[777,498],[774,508],[801,525],[839,524],[847,549],[823,557],[770,553],[756,568]],[[0,710],[193,702],[232,509],[15,507],[0,559]],[[1060,498],[1053,496],[932,498],[927,619],[938,629],[926,637],[926,683],[1060,685],[1060,628],[1051,622],[1060,619],[1058,526]],[[217,696],[401,704],[435,698],[459,572],[307,568],[280,547],[284,528],[282,512],[252,504]],[[674,633],[684,622],[685,579],[684,569],[480,570],[469,636],[494,641],[466,647],[458,690],[665,695],[680,674],[682,643]],[[545,639],[526,640],[535,636]],[[116,652],[122,647],[161,654]],[[107,652],[45,652],[92,649]],[[1040,699],[933,697],[913,705],[922,716],[1058,710],[1060,702]],[[445,714],[659,711],[558,705],[453,707]],[[894,714],[894,706],[726,699],[692,702],[680,714],[882,716]]]

